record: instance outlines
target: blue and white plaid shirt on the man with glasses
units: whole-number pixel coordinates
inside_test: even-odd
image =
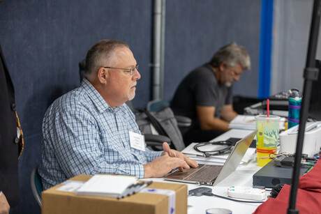
[[[78,174],[143,178],[143,165],[161,152],[131,148],[129,131],[140,133],[129,107],[110,107],[84,79],[45,113],[39,167],[44,190]]]

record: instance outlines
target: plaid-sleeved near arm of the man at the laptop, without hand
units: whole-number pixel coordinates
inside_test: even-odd
[[[57,165],[67,178],[79,174],[125,174],[144,177],[144,166],[140,162],[124,160],[119,152],[122,145],[102,142],[101,130],[90,114],[84,112],[64,112],[55,121],[45,144],[50,144]],[[48,128],[50,129],[50,128]],[[50,162],[47,162],[50,167]]]

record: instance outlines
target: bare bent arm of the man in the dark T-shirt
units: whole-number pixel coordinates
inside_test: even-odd
[[[197,105],[196,112],[202,130],[229,130],[227,121],[214,117],[215,107]]]

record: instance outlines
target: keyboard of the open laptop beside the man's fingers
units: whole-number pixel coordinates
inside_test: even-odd
[[[193,174],[186,177],[185,181],[214,181],[223,166],[204,165]]]

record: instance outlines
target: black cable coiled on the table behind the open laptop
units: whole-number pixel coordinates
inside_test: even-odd
[[[218,149],[218,150],[214,150],[214,151],[202,151],[200,150],[199,147],[201,146],[207,146],[207,145],[221,145],[221,146],[226,146],[225,148],[221,148],[221,149]],[[204,156],[206,158],[208,158],[209,156],[212,156],[212,155],[222,155],[222,154],[225,154],[225,153],[230,153],[230,151],[232,151],[232,148],[234,146],[234,143],[233,142],[230,142],[230,141],[221,141],[221,142],[203,142],[203,143],[198,143],[194,146],[194,149],[195,151],[198,151],[200,153],[203,153]]]

